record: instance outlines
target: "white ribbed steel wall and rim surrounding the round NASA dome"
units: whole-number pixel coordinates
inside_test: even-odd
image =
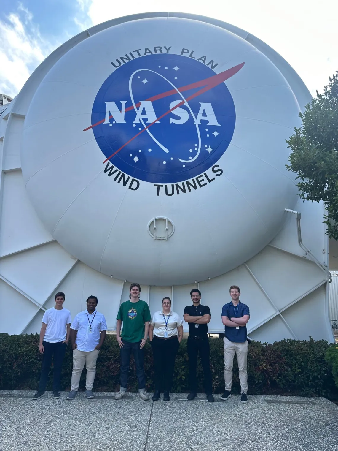
[[[156,14],[164,15],[141,14],[137,18]],[[215,19],[165,14],[204,20],[247,39],[287,78],[298,103],[305,105],[309,101],[310,94],[298,75],[256,37]],[[66,252],[45,229],[27,197],[20,158],[25,116],[37,87],[50,68],[78,42],[127,20],[131,18],[97,25],[59,47],[32,74],[19,95],[0,115],[1,332],[39,331],[43,312],[54,305],[56,291],[66,293],[65,307],[70,309],[72,317],[85,308],[89,295],[96,295],[98,309],[105,314],[108,328],[114,330],[119,305],[128,299],[131,281],[117,280],[86,266]],[[283,208],[289,207],[283,205]],[[298,200],[293,209],[302,215],[304,244],[322,264],[327,265],[328,239],[322,224],[323,204]],[[240,241],[238,246],[241,246]],[[202,304],[208,304],[211,310],[209,331],[222,332],[221,308],[229,301],[228,288],[233,284],[240,286],[241,300],[250,307],[248,331],[251,338],[273,342],[283,338],[307,339],[311,335],[315,339],[333,340],[327,275],[299,247],[296,218],[286,212],[285,224],[278,235],[239,267],[210,280],[197,280],[196,283],[192,280],[188,285],[142,285],[142,299],[148,302],[151,313],[154,313],[160,308],[161,299],[169,295],[173,299],[174,310],[183,317],[184,307],[191,304],[189,292],[198,286],[202,292]],[[187,331],[187,324],[184,324],[184,330]]]

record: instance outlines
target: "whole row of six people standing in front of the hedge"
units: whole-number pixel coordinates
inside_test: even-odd
[[[162,308],[151,317],[149,306],[140,299],[141,287],[137,283],[130,285],[129,300],[120,305],[117,315],[116,340],[120,347],[120,390],[115,399],[125,396],[128,386],[128,372],[131,353],[134,356],[138,381],[138,392],[142,400],[149,400],[146,392],[146,374],[144,371],[144,346],[149,337],[154,359],[155,392],[153,401],[160,399],[169,401],[175,358],[183,338],[183,321],[172,311],[171,299],[162,299]],[[250,318],[249,308],[240,300],[240,289],[232,285],[229,290],[231,301],[222,308],[222,322],[224,324],[224,381],[225,391],[221,399],[227,400],[231,396],[233,378],[233,358],[237,354],[239,378],[241,384],[241,402],[247,403],[247,322]],[[214,402],[212,395],[212,375],[210,371],[210,345],[208,323],[210,322],[210,308],[201,304],[200,290],[190,292],[192,304],[184,309],[183,319],[188,323],[189,336],[187,339],[187,353],[189,361],[188,400],[197,396],[197,358],[201,359],[204,373],[204,389],[209,402]],[[41,378],[39,390],[33,399],[39,399],[45,394],[47,377],[54,355],[53,398],[58,399],[59,383],[65,347],[69,339],[73,348],[73,372],[71,391],[66,397],[73,400],[78,393],[82,369],[86,364],[87,399],[94,398],[92,388],[96,374],[96,360],[106,337],[107,325],[105,317],[96,310],[98,300],[96,296],[89,296],[87,309],[76,315],[71,322],[70,312],[63,307],[64,293],[55,295],[55,307],[46,310],[42,318],[39,350],[42,357]],[[121,331],[122,329],[122,331]]]

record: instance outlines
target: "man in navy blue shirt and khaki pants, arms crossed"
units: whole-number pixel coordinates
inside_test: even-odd
[[[231,302],[222,308],[224,324],[224,381],[225,392],[221,399],[231,396],[233,381],[233,358],[237,355],[239,382],[241,383],[241,402],[247,403],[247,322],[250,319],[249,307],[239,300],[241,291],[237,285],[230,287]]]

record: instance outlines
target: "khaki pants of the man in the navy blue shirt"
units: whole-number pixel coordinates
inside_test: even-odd
[[[247,350],[248,342],[233,343],[226,337],[224,341],[224,381],[225,390],[231,391],[233,381],[233,358],[237,355],[239,382],[241,384],[241,393],[247,393]]]

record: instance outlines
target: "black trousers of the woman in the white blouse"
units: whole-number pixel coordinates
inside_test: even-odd
[[[179,348],[177,336],[163,340],[154,335],[151,341],[155,367],[155,390],[170,391],[173,383],[175,358]]]

